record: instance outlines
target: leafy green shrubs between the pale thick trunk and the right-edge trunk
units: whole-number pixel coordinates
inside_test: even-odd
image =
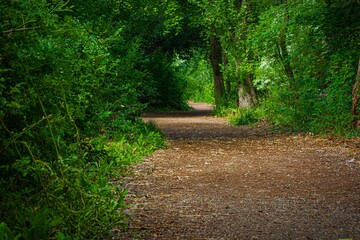
[[[250,42],[261,55],[255,84],[263,94],[263,117],[294,131],[357,134],[351,107],[359,35],[351,29],[359,26],[358,10],[356,3],[318,1],[262,12]],[[279,52],[281,31],[286,33],[286,59]]]

